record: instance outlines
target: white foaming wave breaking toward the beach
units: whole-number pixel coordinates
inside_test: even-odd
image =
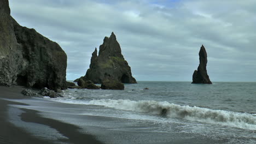
[[[90,105],[101,105],[126,111],[138,111],[172,118],[182,118],[210,124],[220,124],[248,130],[256,130],[256,117],[249,113],[238,113],[224,110],[211,110],[197,106],[181,106],[167,101],[154,100],[91,100]]]

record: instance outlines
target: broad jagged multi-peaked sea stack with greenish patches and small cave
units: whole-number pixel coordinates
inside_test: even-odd
[[[110,75],[113,80],[121,83],[137,83],[132,77],[130,66],[121,54],[121,47],[113,32],[109,38],[104,38],[98,56],[97,49],[92,53],[90,68],[83,79],[102,83],[104,75]]]

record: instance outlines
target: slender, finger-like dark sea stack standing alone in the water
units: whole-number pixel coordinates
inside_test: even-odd
[[[201,49],[199,51],[199,61],[200,61],[200,64],[197,70],[194,71],[192,83],[212,84],[206,70],[207,53],[203,45],[201,46]]]

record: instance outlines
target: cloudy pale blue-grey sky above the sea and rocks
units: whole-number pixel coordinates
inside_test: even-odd
[[[11,15],[60,44],[67,80],[114,32],[137,81],[191,81],[203,44],[214,81],[256,81],[255,0],[10,0]]]

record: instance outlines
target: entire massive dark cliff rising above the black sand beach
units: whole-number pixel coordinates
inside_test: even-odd
[[[0,85],[66,89],[67,55],[61,47],[22,27],[10,16],[8,0],[0,1]]]

